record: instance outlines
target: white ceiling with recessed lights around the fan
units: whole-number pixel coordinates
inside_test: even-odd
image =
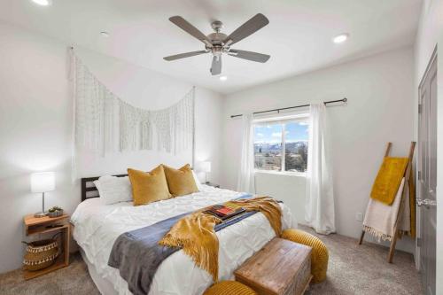
[[[414,42],[422,0],[0,0],[0,19],[221,93],[399,48]],[[164,56],[203,50],[203,43],[169,22],[181,15],[204,34],[221,20],[229,35],[254,14],[270,23],[232,46],[271,55],[266,64],[223,56],[211,76],[210,55],[167,62]],[[99,35],[108,31],[110,37]],[[348,42],[334,44],[339,33]]]

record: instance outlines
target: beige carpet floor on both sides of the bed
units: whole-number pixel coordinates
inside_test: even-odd
[[[307,229],[309,230],[309,229]],[[312,232],[312,231],[311,231]],[[422,294],[411,254],[396,252],[394,263],[386,262],[387,248],[364,244],[339,235],[319,236],[330,251],[328,279],[312,285],[310,295],[402,295]],[[68,268],[24,281],[20,271],[0,275],[2,295],[99,294],[80,255]]]

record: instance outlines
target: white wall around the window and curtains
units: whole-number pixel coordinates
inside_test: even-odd
[[[348,105],[329,107],[336,224],[338,233],[359,237],[355,213],[365,212],[385,144],[393,143],[392,155],[407,156],[413,139],[413,58],[410,48],[394,50],[226,97],[223,186],[236,188],[241,151],[241,120],[229,115],[347,97]],[[303,179],[260,175],[256,180],[259,193],[282,198],[304,221]],[[412,240],[399,247],[414,251]]]

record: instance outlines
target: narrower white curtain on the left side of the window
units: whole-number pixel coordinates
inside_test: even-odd
[[[245,113],[243,119],[243,144],[240,173],[238,175],[237,191],[255,193],[254,159],[253,159],[253,114]]]

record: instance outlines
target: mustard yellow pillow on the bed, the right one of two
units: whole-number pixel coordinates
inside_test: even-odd
[[[163,165],[163,167],[165,168],[169,192],[174,197],[189,195],[198,191],[197,184],[194,181],[194,175],[192,175],[192,170],[190,170],[189,164],[186,164],[180,169],[167,167],[166,165]]]

